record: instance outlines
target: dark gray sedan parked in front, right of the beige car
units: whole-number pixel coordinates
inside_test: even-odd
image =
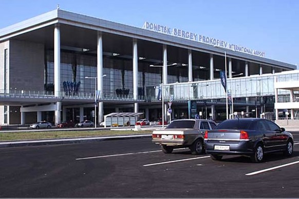
[[[223,121],[214,130],[205,132],[204,144],[212,160],[221,160],[223,155],[247,155],[253,162],[262,162],[266,153],[293,154],[293,135],[261,118]]]

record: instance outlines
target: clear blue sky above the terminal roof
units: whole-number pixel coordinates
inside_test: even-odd
[[[145,21],[214,37],[299,65],[296,0],[1,0],[0,29],[54,10],[142,27]]]

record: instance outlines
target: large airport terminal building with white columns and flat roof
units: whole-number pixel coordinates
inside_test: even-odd
[[[298,81],[295,69],[198,33],[57,9],[0,29],[0,124],[92,121],[95,114],[100,123],[111,112],[143,112],[150,121],[167,114],[221,121],[234,112],[274,120],[275,102],[296,97],[296,89],[274,83]],[[290,113],[296,117],[296,109]]]

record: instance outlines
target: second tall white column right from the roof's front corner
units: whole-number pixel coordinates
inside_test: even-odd
[[[102,32],[98,32],[97,40],[97,90],[103,94],[103,38]],[[98,118],[97,123],[100,124],[104,121],[104,105],[103,102],[98,103]]]

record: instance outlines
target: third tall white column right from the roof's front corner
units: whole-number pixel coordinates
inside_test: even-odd
[[[138,99],[138,45],[137,39],[133,39],[133,97]],[[134,112],[139,112],[138,103],[134,103]]]

